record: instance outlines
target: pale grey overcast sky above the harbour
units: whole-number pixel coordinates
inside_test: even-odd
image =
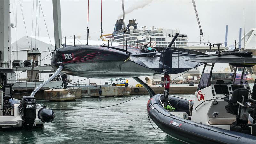
[[[15,4],[14,0],[10,0],[10,2],[11,22],[17,25],[17,38],[19,39],[26,35],[20,1],[16,1],[17,4]],[[39,36],[48,37],[41,11],[40,16],[37,15],[39,20],[37,20],[36,24],[36,2],[37,0],[21,1],[27,33],[29,36],[34,36],[35,26],[37,28],[39,26]],[[54,37],[52,0],[41,0],[40,2],[49,35]],[[90,0],[89,2],[90,39],[98,40],[101,28],[100,0]],[[80,35],[81,39],[87,38],[87,3],[87,0],[61,1],[62,36]],[[134,7],[145,3],[148,3],[145,7],[132,11]],[[243,28],[242,35],[244,35],[243,8],[245,11],[245,33],[256,27],[256,0],[200,0],[195,1],[195,3],[205,41],[224,43],[226,25],[228,25],[228,45],[233,44],[234,40],[238,41],[240,27]],[[14,20],[15,5],[17,6],[17,24],[15,24]],[[188,35],[188,41],[199,41],[200,31],[191,0],[125,0],[124,6],[125,11],[132,11],[125,15],[126,24],[129,20],[136,19],[138,26],[141,27],[147,26],[150,28],[155,26],[155,28],[179,29],[180,33]],[[102,0],[103,34],[113,32],[114,25],[120,14],[122,14],[121,0]],[[11,36],[12,42],[16,41],[14,28],[12,28]],[[243,45],[242,43],[242,47]]]

